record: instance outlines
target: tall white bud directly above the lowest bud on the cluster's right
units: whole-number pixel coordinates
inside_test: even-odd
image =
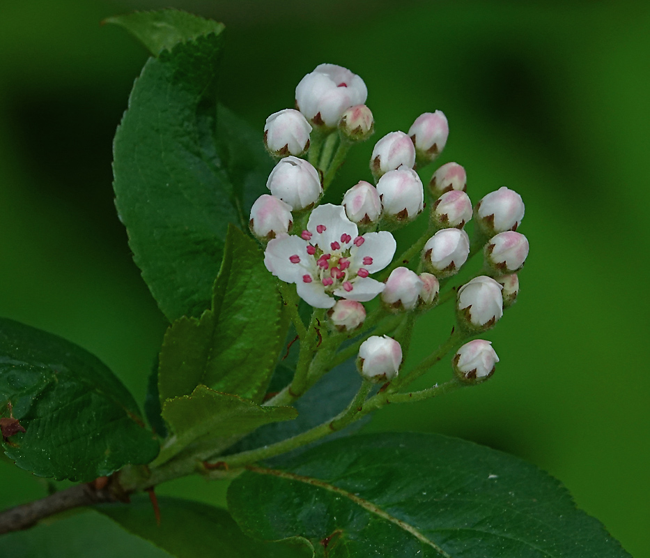
[[[459,322],[470,331],[485,331],[503,315],[503,287],[488,276],[474,277],[458,289]]]

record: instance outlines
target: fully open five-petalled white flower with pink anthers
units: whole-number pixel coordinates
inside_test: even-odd
[[[272,239],[264,264],[280,280],[295,283],[298,296],[315,308],[332,308],[332,295],[366,302],[384,290],[369,274],[391,262],[396,242],[387,231],[358,233],[343,206],[324,204],[311,212],[300,236]]]

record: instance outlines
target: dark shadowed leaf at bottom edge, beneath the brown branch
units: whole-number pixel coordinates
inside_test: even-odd
[[[95,509],[130,533],[146,538],[178,558],[307,557],[304,548],[288,543],[263,543],[245,536],[224,509],[190,500],[159,497],[160,526],[151,502],[134,497],[130,504],[105,504]]]

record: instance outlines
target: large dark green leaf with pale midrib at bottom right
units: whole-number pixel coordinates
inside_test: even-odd
[[[629,558],[554,478],[460,439],[356,436],[276,462],[229,487],[256,538],[302,536],[330,558]]]

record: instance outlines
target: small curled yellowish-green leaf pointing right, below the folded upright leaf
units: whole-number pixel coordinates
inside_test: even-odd
[[[193,442],[228,439],[263,424],[290,421],[296,416],[293,407],[262,407],[237,395],[199,386],[192,395],[164,402],[162,417],[174,435],[162,446],[155,465],[171,459]]]

